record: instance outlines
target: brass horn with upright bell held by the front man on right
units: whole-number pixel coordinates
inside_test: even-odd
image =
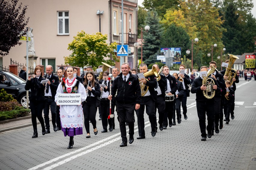
[[[215,69],[214,66],[210,66],[210,69],[207,72],[207,76],[203,78],[202,84],[204,84],[206,86],[206,90],[203,91],[203,95],[207,99],[211,99],[215,96],[215,90],[213,89],[215,82],[212,78],[208,77],[209,75],[214,73],[215,70],[218,72],[218,70]]]

